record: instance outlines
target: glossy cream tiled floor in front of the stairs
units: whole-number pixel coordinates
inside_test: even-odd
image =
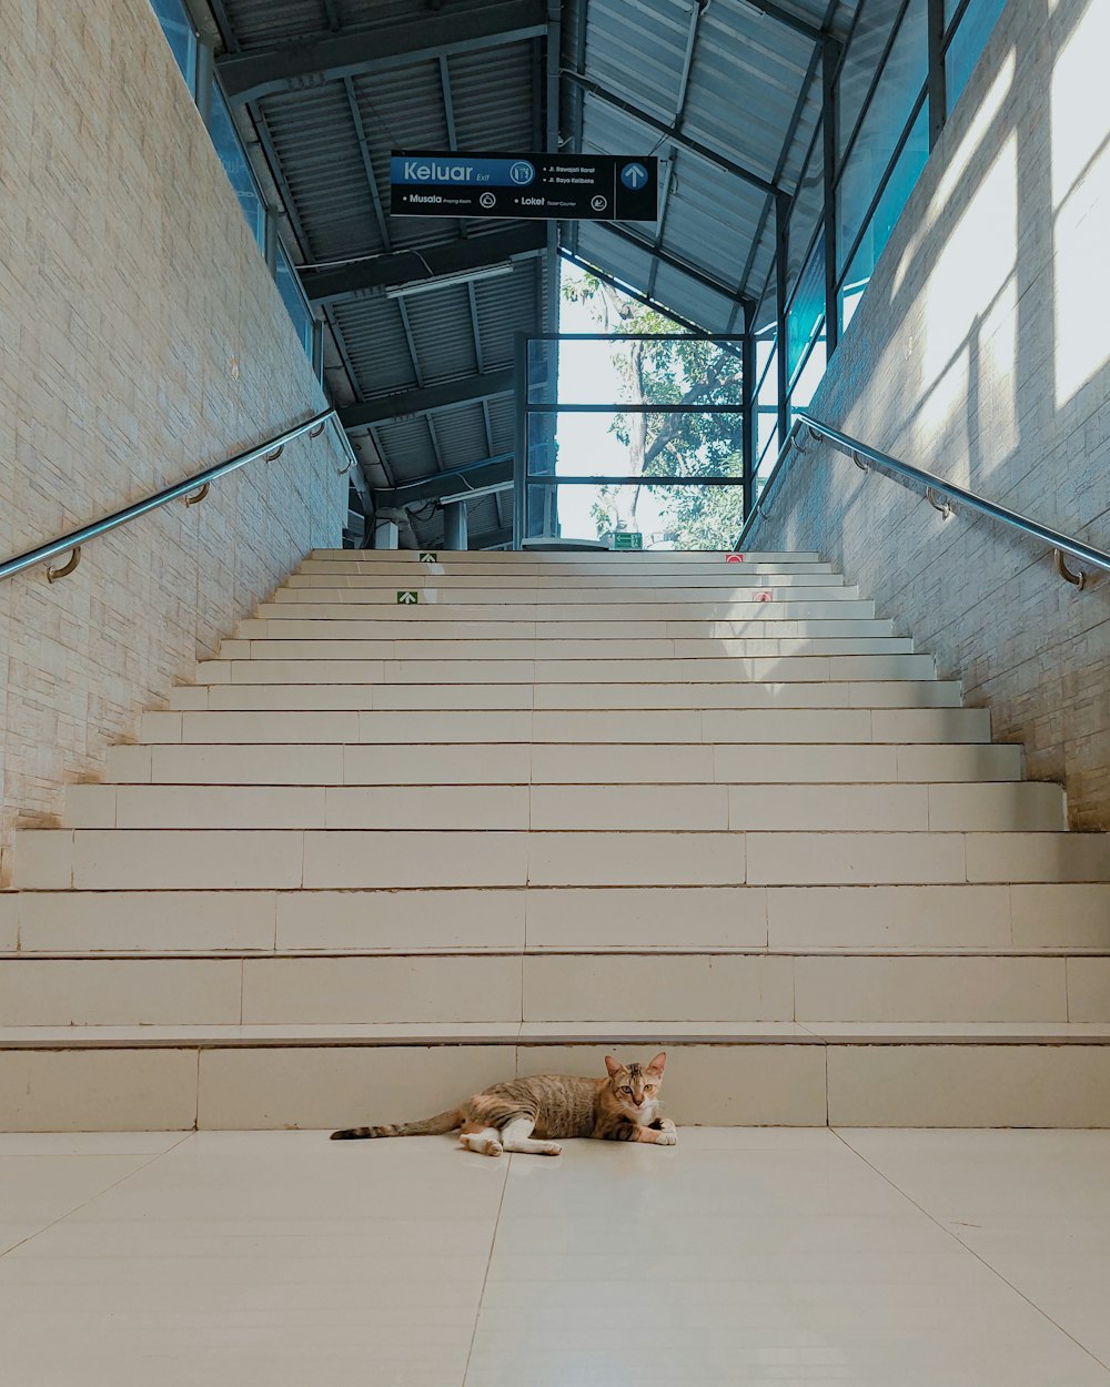
[[[0,1136],[3,1380],[1110,1387],[1107,1172],[1110,1132]]]

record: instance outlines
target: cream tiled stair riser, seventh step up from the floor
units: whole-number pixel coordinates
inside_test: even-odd
[[[537,709],[144,713],[142,741],[387,743],[988,743],[985,709]]]

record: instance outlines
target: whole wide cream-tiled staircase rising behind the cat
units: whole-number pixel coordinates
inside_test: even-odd
[[[1110,841],[828,565],[443,559],[312,555],[17,836],[4,1126],[660,1046],[678,1122],[1110,1125]]]

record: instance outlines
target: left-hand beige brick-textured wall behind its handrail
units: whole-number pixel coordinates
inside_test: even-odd
[[[147,0],[0,6],[0,555],[325,408]],[[0,839],[50,824],[144,706],[312,546],[325,436],[0,583]],[[58,560],[64,562],[64,560]]]

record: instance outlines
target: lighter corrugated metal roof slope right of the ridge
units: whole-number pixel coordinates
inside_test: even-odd
[[[887,0],[884,0],[887,3]],[[778,8],[814,29],[844,37],[859,0],[778,0]],[[697,28],[685,85],[685,43],[694,10]],[[758,300],[774,255],[774,218],[769,194],[728,168],[742,166],[787,194],[799,191],[803,219],[798,237],[809,241],[820,208],[820,186],[802,180],[803,161],[820,118],[819,43],[795,32],[746,0],[573,0],[569,31],[586,15],[581,75],[655,121],[705,146],[702,157],[670,140],[648,121],[587,92],[572,108],[581,112],[580,148],[612,154],[670,153],[672,186],[656,227],[635,227],[673,261],[652,268],[644,254],[590,223],[572,229],[572,248],[623,283],[669,304],[681,318],[724,330],[737,315],[730,300]],[[567,44],[565,62],[574,60]],[[684,97],[684,98],[683,98]],[[808,215],[805,209],[812,214]],[[801,254],[805,247],[795,247]],[[719,290],[705,280],[720,284]],[[667,297],[670,295],[670,297]],[[708,316],[706,316],[708,315]]]

